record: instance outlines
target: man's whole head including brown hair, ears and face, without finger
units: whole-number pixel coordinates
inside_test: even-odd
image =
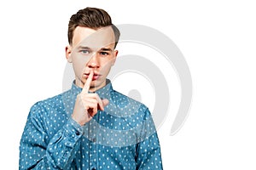
[[[73,63],[76,85],[84,87],[90,71],[94,72],[90,91],[106,84],[106,77],[118,51],[119,30],[108,13],[100,8],[84,8],[73,14],[68,24],[67,61]]]

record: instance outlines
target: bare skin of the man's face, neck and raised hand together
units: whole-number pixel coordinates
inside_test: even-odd
[[[108,99],[101,99],[96,90],[106,85],[106,78],[115,63],[112,27],[93,30],[78,26],[73,32],[73,44],[66,47],[67,61],[73,64],[75,83],[82,92],[77,96],[73,120],[81,126],[89,122],[98,110],[104,111]]]

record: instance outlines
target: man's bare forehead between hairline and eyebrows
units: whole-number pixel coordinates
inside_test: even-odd
[[[111,26],[102,27],[94,30],[84,26],[77,26],[73,32],[73,47],[80,46],[89,48],[112,47],[115,38]]]

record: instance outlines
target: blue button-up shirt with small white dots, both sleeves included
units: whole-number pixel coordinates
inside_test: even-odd
[[[148,108],[113,90],[97,90],[109,104],[80,126],[71,115],[82,88],[39,101],[20,139],[19,169],[162,169],[160,143]]]

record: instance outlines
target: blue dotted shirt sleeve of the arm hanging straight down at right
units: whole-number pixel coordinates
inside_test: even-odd
[[[140,142],[137,144],[137,169],[163,169],[160,142],[150,112],[146,111],[141,130]]]

